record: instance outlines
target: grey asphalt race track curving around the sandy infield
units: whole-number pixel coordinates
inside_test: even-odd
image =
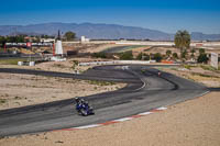
[[[84,97],[96,112],[86,117],[77,114],[73,99],[0,111],[0,136],[103,123],[183,102],[209,91],[202,85],[167,72],[158,77],[152,66],[141,65],[95,67],[84,75],[7,68],[1,68],[1,72],[119,81],[128,86],[118,91]]]

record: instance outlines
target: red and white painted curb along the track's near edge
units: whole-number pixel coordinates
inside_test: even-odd
[[[124,121],[131,121],[131,120],[133,120],[133,119],[142,117],[142,116],[146,116],[146,115],[152,114],[152,113],[162,112],[162,111],[165,111],[166,109],[167,109],[167,108],[162,106],[162,108],[157,108],[157,109],[151,110],[151,111],[148,111],[148,112],[140,113],[140,114],[132,115],[132,116],[129,116],[129,117],[122,117],[122,119],[118,119],[118,120],[113,120],[113,121],[108,121],[108,122],[100,123],[100,124],[91,124],[91,125],[85,125],[85,126],[79,126],[79,127],[70,127],[70,128],[55,130],[55,131],[52,131],[52,132],[58,132],[58,131],[75,131],[75,130],[85,130],[85,128],[92,128],[92,127],[99,127],[99,126],[111,125],[111,124],[121,123],[121,122],[124,122]]]

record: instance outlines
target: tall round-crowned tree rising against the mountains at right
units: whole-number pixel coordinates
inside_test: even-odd
[[[187,31],[178,31],[175,35],[175,45],[177,48],[189,48],[191,42],[190,34]]]

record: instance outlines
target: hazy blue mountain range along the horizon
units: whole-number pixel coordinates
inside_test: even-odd
[[[138,26],[123,26],[117,24],[94,24],[94,23],[41,23],[30,25],[0,25],[0,35],[57,35],[58,30],[63,32],[73,31],[78,37],[86,36],[91,40],[152,40],[173,41],[175,34],[157,30],[143,29]],[[204,34],[193,32],[194,41],[220,41],[220,34]]]

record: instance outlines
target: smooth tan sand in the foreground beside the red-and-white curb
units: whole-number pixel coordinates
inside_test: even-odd
[[[70,132],[4,137],[1,146],[219,146],[220,93],[132,121]]]

